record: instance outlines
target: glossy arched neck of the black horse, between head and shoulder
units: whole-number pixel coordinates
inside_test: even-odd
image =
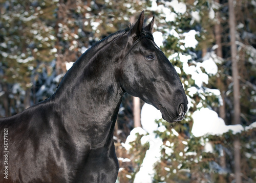
[[[114,62],[121,58],[119,50],[120,44],[89,50],[63,77],[54,96],[57,108],[65,110],[63,119],[66,129],[87,136],[97,135],[97,138],[90,137],[95,139],[91,146],[104,143],[109,139],[107,137],[113,138],[123,95],[115,79],[118,64]]]

